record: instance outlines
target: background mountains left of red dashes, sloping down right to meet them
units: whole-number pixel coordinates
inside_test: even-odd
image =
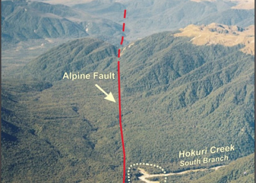
[[[122,25],[61,4],[2,1],[2,40],[17,43],[30,39],[92,36],[116,44],[125,36]],[[114,39],[115,38],[115,39]]]

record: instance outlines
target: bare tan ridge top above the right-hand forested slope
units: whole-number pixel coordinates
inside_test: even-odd
[[[254,29],[254,25],[250,25],[247,28],[216,23],[202,26],[188,25],[186,28],[179,29],[181,32],[176,33],[174,36],[192,37],[190,41],[197,45],[222,44],[224,46],[235,46],[244,44],[245,47],[241,51],[255,55]]]

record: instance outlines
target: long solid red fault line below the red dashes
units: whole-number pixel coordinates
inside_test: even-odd
[[[126,152],[125,152],[125,143],[122,131],[122,110],[121,110],[121,87],[120,87],[120,61],[118,61],[118,100],[119,100],[119,124],[121,131],[121,139],[122,139],[122,147],[123,147],[123,183],[125,183],[126,179]]]

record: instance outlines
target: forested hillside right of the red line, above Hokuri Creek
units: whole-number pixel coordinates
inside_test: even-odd
[[[133,115],[123,117],[126,139],[134,138],[126,143],[131,159],[177,162],[180,144],[189,150],[230,142],[239,148],[240,142],[248,142],[241,149],[247,154],[254,143],[254,56],[237,52],[240,46],[193,46],[189,40],[156,34],[135,42],[122,55],[124,103],[133,103],[126,105]]]

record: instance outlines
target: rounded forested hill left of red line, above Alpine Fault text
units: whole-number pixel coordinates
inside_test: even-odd
[[[65,72],[105,71],[113,65],[117,52],[115,46],[101,40],[74,40],[37,57],[22,68],[22,72],[24,75],[37,76],[41,80],[52,82],[61,80]]]

